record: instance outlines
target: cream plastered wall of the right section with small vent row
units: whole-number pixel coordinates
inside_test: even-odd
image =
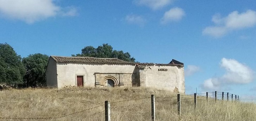
[[[144,73],[144,72],[142,72]],[[154,87],[173,91],[175,87],[179,92],[185,93],[184,68],[177,66],[147,66],[146,87]],[[143,82],[144,80],[141,80]]]

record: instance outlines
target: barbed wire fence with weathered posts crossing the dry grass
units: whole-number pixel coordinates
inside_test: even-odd
[[[210,95],[209,95],[210,94]],[[220,95],[220,96],[219,96]],[[158,97],[151,95],[151,97],[138,98],[138,99],[128,99],[115,102],[105,101],[104,105],[99,105],[91,107],[88,109],[81,110],[79,112],[74,112],[62,116],[56,117],[1,117],[0,120],[55,120],[61,119],[63,117],[73,116],[79,114],[77,121],[82,121],[84,119],[90,118],[91,120],[105,120],[110,121],[111,118],[114,120],[122,120],[124,115],[132,114],[141,117],[141,119],[148,119],[155,121],[155,118],[161,120],[162,116],[168,117],[168,112],[171,112],[177,116],[181,115],[181,112],[187,113],[192,112],[197,109],[197,101],[205,101],[207,103],[216,103],[217,101],[239,101],[239,96],[235,94],[230,94],[228,92],[217,92],[214,93],[194,93],[190,95],[180,95],[168,97]],[[181,105],[186,106],[186,108],[181,108]],[[111,107],[110,107],[111,106]],[[151,111],[149,110],[151,108]],[[95,110],[94,110],[95,109]],[[104,110],[103,110],[104,109]],[[161,110],[158,110],[161,109]],[[93,112],[86,117],[81,113]],[[114,116],[113,116],[114,115]],[[111,117],[112,116],[112,117]],[[100,118],[96,118],[100,117]],[[130,117],[132,118],[132,117]],[[126,120],[134,120],[127,119]]]

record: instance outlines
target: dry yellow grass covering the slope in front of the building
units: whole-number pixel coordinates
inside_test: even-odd
[[[206,103],[205,97],[199,97],[198,108],[194,110],[193,99],[191,99],[193,96],[181,96],[181,116],[179,117],[177,115],[177,94],[145,88],[124,90],[123,88],[94,89],[90,87],[66,90],[3,90],[0,91],[0,117],[64,116],[56,119],[37,119],[37,121],[104,121],[104,101],[108,100],[111,103],[111,120],[113,121],[151,121],[151,94],[156,97],[157,121],[254,121],[256,119],[254,103],[231,101],[215,103],[212,99]],[[174,97],[162,98],[172,96]],[[92,107],[96,108],[89,109]],[[23,121],[27,119],[0,120]]]

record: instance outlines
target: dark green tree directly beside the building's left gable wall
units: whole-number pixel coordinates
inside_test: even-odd
[[[27,87],[42,87],[46,86],[45,71],[47,68],[49,56],[36,53],[30,54],[22,59],[26,68],[24,82]]]

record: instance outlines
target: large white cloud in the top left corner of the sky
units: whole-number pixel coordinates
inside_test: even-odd
[[[76,9],[72,7],[63,11],[53,0],[0,0],[0,13],[2,17],[34,23],[58,14],[75,15]]]

